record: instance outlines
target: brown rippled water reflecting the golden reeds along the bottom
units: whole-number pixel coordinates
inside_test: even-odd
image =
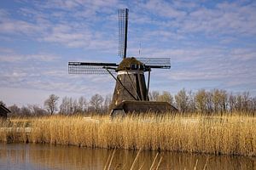
[[[0,144],[0,169],[103,169],[113,150],[49,144]],[[157,152],[142,151],[134,169],[149,169]],[[116,150],[111,169],[130,169],[137,151]],[[159,169],[256,169],[256,158],[161,152]],[[196,163],[197,162],[197,163]],[[207,162],[207,163],[206,163]]]

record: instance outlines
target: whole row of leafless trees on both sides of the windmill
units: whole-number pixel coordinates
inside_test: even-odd
[[[64,97],[60,100],[55,94],[50,94],[44,101],[44,107],[27,105],[18,107],[9,106],[10,116],[46,116],[53,114],[108,114],[112,96],[109,94],[102,97],[100,94],[93,95],[90,100],[84,96],[79,99]],[[181,113],[223,114],[223,113],[247,113],[255,115],[256,97],[251,97],[248,92],[241,94],[228,93],[225,90],[200,89],[193,93],[184,88],[172,95],[170,92],[152,91],[149,93],[152,101],[166,101],[177,107]],[[3,101],[0,101],[4,104]]]

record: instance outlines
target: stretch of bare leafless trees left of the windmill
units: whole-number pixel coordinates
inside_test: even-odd
[[[0,101],[4,105],[3,101]],[[60,102],[60,103],[59,103]],[[93,95],[90,100],[84,96],[79,99],[64,97],[61,99],[55,94],[50,94],[48,99],[44,100],[44,107],[38,105],[27,105],[19,107],[10,105],[9,116],[48,116],[53,114],[75,115],[75,114],[104,114],[108,113],[111,103],[111,95],[102,97],[100,94]],[[60,105],[59,105],[60,104]]]

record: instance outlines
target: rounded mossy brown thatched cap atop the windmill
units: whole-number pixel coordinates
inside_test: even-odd
[[[123,59],[116,71],[127,71],[127,70],[144,70],[144,65],[141,61],[137,60],[135,57]]]

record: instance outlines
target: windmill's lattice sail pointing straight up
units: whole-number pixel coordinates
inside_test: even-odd
[[[128,11],[128,8],[119,9],[119,56],[123,59],[127,49]]]

